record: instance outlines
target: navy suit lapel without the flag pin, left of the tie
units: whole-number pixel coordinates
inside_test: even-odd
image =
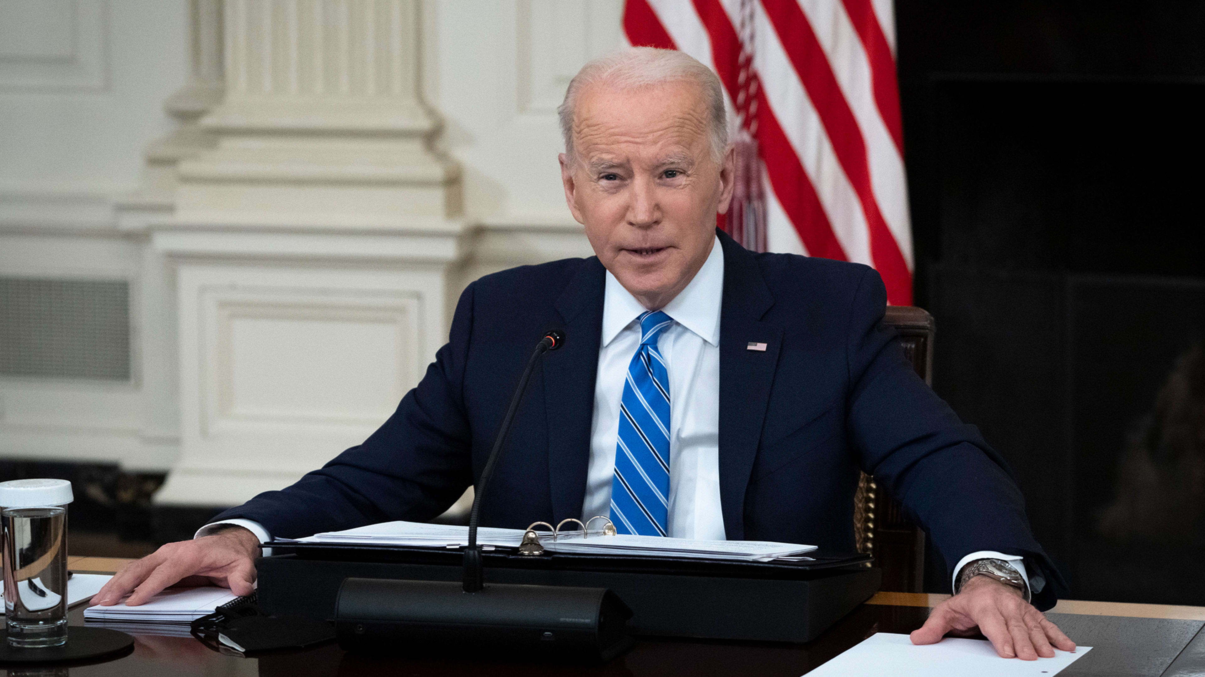
[[[605,275],[602,264],[589,258],[570,279],[556,302],[565,320],[565,345],[543,357],[553,524],[581,517],[586,499]]]

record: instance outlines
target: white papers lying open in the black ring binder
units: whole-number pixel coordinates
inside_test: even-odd
[[[487,548],[517,548],[522,541],[522,529],[482,526],[477,530],[477,543]],[[463,548],[469,544],[469,528],[417,522],[386,522],[346,531],[315,534],[295,541],[278,538],[277,542]],[[770,561],[778,558],[799,560],[806,559],[800,558],[803,553],[816,549],[816,546],[770,541],[693,541],[660,536],[604,536],[598,531],[590,531],[586,536],[581,531],[568,531],[558,536],[556,541],[553,541],[552,534],[542,531],[540,532],[540,543],[543,544],[545,549],[554,553],[628,554],[739,561]]]

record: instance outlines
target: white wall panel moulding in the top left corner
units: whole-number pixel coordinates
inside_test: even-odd
[[[10,0],[10,16],[17,19],[0,28],[0,92],[106,89],[106,0]]]

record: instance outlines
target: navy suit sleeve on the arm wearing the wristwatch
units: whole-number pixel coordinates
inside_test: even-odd
[[[863,470],[929,534],[947,570],[976,551],[1022,555],[1030,581],[1045,581],[1034,605],[1053,606],[1066,584],[1033,536],[1012,472],[916,375],[882,322],[886,307],[882,279],[866,269],[847,342],[847,425]]]

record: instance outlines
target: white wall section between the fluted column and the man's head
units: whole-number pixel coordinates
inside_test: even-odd
[[[466,213],[487,226],[572,228],[556,107],[588,59],[619,47],[622,0],[436,2],[429,11],[429,93],[464,171]]]

